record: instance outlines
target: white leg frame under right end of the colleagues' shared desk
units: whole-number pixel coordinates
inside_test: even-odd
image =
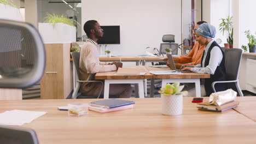
[[[162,79],[162,87],[167,83],[182,82],[182,83],[195,83],[196,97],[201,97],[200,79]]]

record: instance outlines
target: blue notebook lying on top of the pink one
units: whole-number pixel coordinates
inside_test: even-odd
[[[91,102],[91,106],[104,107],[107,109],[112,109],[114,107],[131,105],[131,104],[135,104],[135,102],[131,100],[123,100],[123,99],[104,99],[104,100],[97,100],[97,101]]]

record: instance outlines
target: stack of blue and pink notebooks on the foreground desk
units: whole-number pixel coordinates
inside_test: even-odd
[[[132,109],[134,101],[123,100],[123,99],[105,99],[105,100],[97,100],[92,101],[89,110],[97,111],[97,112],[111,112],[111,111],[119,111]]]

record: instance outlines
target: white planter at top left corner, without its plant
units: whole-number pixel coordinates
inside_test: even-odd
[[[0,19],[21,21],[20,9],[0,3]]]

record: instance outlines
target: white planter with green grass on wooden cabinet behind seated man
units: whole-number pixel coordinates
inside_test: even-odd
[[[76,41],[77,23],[63,15],[47,14],[44,23],[38,23],[44,44],[72,43]]]

